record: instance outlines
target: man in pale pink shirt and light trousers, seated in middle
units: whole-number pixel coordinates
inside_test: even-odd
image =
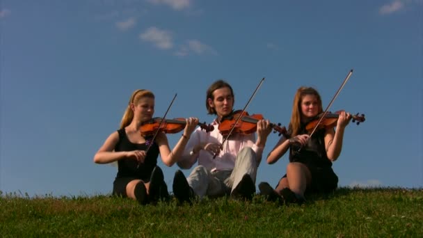
[[[216,115],[212,122],[214,131],[196,129],[189,137],[182,157],[177,161],[180,168],[191,168],[188,178],[177,170],[173,180],[173,193],[179,202],[189,202],[195,197],[232,198],[251,200],[255,193],[257,167],[262,160],[264,145],[272,128],[268,120],[257,122],[255,133],[232,134],[228,140],[219,132],[218,125],[230,116],[234,106],[234,93],[230,84],[215,81],[207,89],[206,108]],[[222,142],[225,143],[222,144]]]

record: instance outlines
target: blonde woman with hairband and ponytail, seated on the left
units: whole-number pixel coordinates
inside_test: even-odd
[[[122,117],[120,129],[106,138],[94,156],[97,164],[118,162],[113,195],[132,198],[141,205],[168,198],[168,189],[163,172],[157,166],[157,157],[160,154],[166,166],[175,164],[198,123],[197,118],[187,119],[183,136],[170,151],[165,133],[158,132],[154,141],[153,136],[141,135],[141,125],[152,120],[153,114],[154,94],[150,90],[135,90]]]

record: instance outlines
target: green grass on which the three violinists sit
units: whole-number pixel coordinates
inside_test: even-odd
[[[228,198],[140,206],[0,192],[0,237],[422,237],[423,190],[337,189],[304,205]]]

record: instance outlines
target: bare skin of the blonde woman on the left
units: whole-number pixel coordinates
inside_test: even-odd
[[[131,143],[145,143],[145,138],[141,136],[139,128],[141,127],[143,122],[152,119],[152,116],[154,114],[154,98],[141,97],[138,102],[132,103],[130,104],[130,106],[131,110],[134,111],[134,118],[132,119],[131,123],[127,127],[125,127],[127,137],[129,141],[131,141]],[[166,166],[172,166],[173,164],[175,164],[176,159],[182,154],[186,142],[188,141],[189,136],[191,135],[197,124],[198,118],[186,119],[186,126],[184,129],[184,135],[186,136],[186,138],[182,136],[175,145],[175,148],[173,148],[173,150],[170,150],[169,148],[168,138],[166,134],[164,134],[163,132],[159,132],[159,134],[157,134],[155,142],[157,143],[157,145],[159,145],[160,157],[163,161],[163,164],[166,164]],[[102,147],[99,148],[99,150],[95,154],[94,162],[97,164],[109,164],[120,159],[129,158],[135,159],[136,161],[138,161],[138,163],[143,164],[146,156],[145,150],[115,152],[114,148],[118,141],[118,132],[113,132],[108,138],[106,138],[106,141],[104,142]],[[131,180],[131,182],[129,182],[126,187],[127,196],[134,200],[136,200],[134,190],[138,182],[141,182],[141,180]],[[144,184],[145,189],[148,192],[150,183],[146,182]]]

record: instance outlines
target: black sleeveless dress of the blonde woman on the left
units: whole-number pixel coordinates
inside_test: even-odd
[[[132,150],[147,150],[149,143],[153,143],[150,150],[147,152],[144,163],[140,164],[134,158],[125,158],[118,160],[118,174],[116,177],[136,177],[143,181],[149,181],[154,166],[157,165],[157,157],[159,157],[159,146],[157,143],[151,142],[152,136],[145,138],[145,143],[131,143],[125,128],[118,130],[119,141],[115,146],[115,152],[132,151]]]

